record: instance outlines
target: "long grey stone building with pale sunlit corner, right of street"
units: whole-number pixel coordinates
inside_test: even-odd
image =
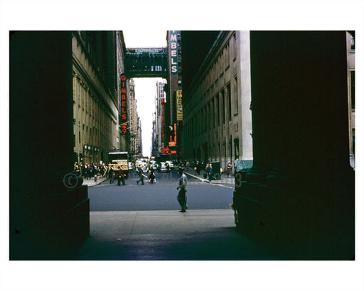
[[[190,46],[199,47],[196,34],[182,33],[183,60]],[[215,35],[207,35],[207,53],[194,54],[196,73],[183,70],[183,159],[218,161],[225,170],[228,161],[252,160],[250,33]],[[185,82],[185,75],[193,77]]]

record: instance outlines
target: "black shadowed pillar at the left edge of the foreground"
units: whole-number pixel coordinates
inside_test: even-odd
[[[10,35],[10,257],[65,256],[89,235],[73,174],[70,32]]]

